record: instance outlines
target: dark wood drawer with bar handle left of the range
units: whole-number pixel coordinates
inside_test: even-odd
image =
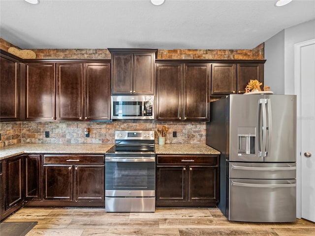
[[[104,155],[44,155],[44,164],[104,164]]]

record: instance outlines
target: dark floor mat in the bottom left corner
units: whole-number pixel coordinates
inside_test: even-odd
[[[37,222],[2,222],[0,236],[25,236]]]

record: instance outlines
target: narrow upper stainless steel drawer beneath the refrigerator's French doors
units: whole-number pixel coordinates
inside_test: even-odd
[[[230,178],[292,179],[296,178],[296,163],[229,162]]]

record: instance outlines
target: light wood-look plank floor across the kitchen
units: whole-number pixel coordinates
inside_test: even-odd
[[[315,223],[229,222],[217,208],[158,208],[110,213],[104,208],[22,208],[4,222],[37,221],[27,236],[315,236]]]

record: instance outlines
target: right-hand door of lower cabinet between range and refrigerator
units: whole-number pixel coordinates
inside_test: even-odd
[[[217,202],[218,167],[189,166],[189,201]]]

